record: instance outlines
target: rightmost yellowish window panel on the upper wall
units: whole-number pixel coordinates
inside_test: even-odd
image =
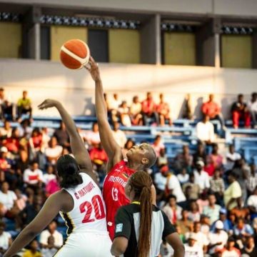
[[[221,36],[221,66],[224,68],[252,68],[253,43],[251,35]]]

